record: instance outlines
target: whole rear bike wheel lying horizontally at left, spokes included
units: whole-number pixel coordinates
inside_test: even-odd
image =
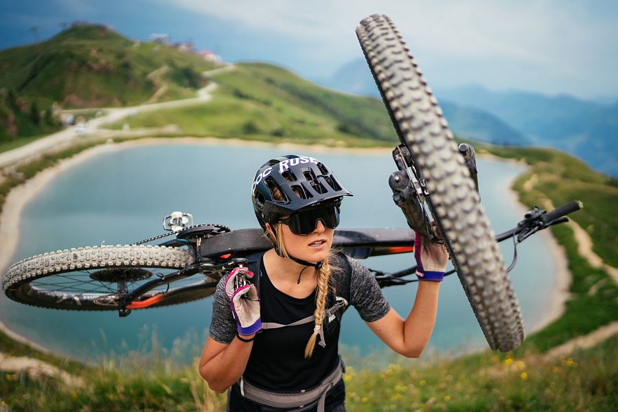
[[[118,310],[122,295],[189,263],[189,252],[177,247],[117,245],[65,249],[13,264],[3,275],[2,288],[10,299],[42,308]],[[157,307],[214,293],[214,287],[192,286],[196,286],[196,278],[188,277],[157,286],[139,299],[170,297],[148,306]]]

